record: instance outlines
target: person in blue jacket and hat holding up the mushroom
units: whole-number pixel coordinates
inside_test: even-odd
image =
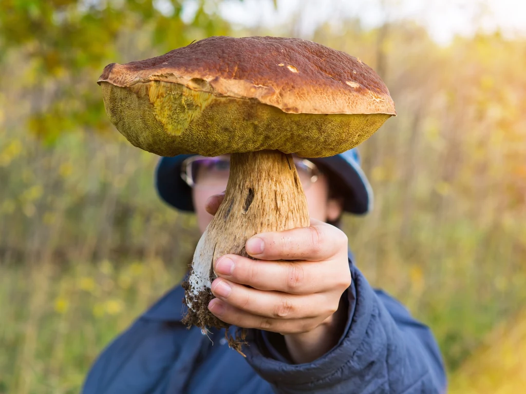
[[[442,393],[446,375],[430,329],[373,289],[337,225],[343,211],[365,214],[372,190],[356,149],[329,158],[294,158],[311,226],[258,234],[254,260],[227,255],[210,311],[248,328],[246,357],[225,329],[181,324],[184,290],[175,286],[98,357],[84,394]],[[195,211],[204,232],[228,179],[228,157],[161,158],[158,193]],[[248,285],[248,286],[244,286]]]

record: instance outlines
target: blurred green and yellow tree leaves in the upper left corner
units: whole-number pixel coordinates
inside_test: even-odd
[[[25,120],[47,143],[64,132],[113,130],[95,85],[104,66],[228,34],[216,7],[201,0],[183,20],[180,0],[6,0],[0,6],[0,54],[7,55],[4,63],[13,53],[23,55],[23,72],[5,83],[16,81],[25,95],[36,95]]]

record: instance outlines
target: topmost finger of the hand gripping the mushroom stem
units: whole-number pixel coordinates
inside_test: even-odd
[[[312,221],[309,227],[255,235],[245,248],[261,260],[322,261],[347,253],[347,236],[337,227]]]

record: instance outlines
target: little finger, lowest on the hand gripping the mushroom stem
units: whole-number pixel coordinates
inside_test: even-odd
[[[262,317],[238,309],[219,298],[211,300],[208,309],[225,323],[237,327],[274,331],[283,335],[306,333],[316,328],[320,323],[320,318],[274,319]]]

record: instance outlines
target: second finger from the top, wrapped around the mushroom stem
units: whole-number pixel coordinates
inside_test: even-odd
[[[214,272],[231,282],[289,294],[343,291],[351,281],[347,258],[327,262],[261,261],[228,254],[218,258]]]

